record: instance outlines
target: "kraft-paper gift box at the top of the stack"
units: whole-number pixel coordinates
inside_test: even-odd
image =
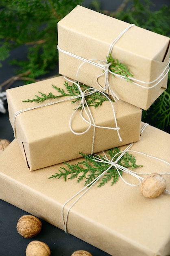
[[[127,27],[129,23],[102,13],[81,6],[74,8],[58,22],[59,74],[97,89],[96,79],[103,74],[98,83],[105,88],[104,67],[98,64],[106,61],[111,43]],[[137,26],[128,29],[114,45],[111,55],[129,67],[134,79],[144,81],[135,81],[144,88],[109,74],[110,89],[123,101],[147,110],[167,88],[169,44],[170,38],[166,36]],[[164,78],[150,83],[164,69]],[[152,86],[155,87],[148,89]]]

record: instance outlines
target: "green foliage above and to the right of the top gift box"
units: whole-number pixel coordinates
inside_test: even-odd
[[[143,3],[142,3],[143,2]],[[163,36],[170,37],[170,6],[162,6],[159,11],[151,11],[154,1],[124,0],[114,12],[102,11],[98,1],[93,1],[93,7],[102,13],[135,24]],[[159,129],[169,132],[170,127],[170,75],[168,89],[147,110],[142,112],[142,121],[153,123]]]

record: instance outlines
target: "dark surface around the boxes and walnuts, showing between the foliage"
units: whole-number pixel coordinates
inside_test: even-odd
[[[91,0],[85,0],[81,5],[91,8],[91,2]],[[103,10],[115,11],[121,2],[122,1],[120,0],[100,0],[100,6]],[[170,6],[170,0],[153,0],[152,2],[154,4],[152,7],[153,10],[158,10],[163,4]],[[20,47],[12,50],[9,59],[13,58],[24,60],[26,58],[26,48]],[[56,65],[56,69],[48,74],[47,78],[57,74],[58,67]],[[8,61],[4,61],[3,67],[0,68],[0,84],[11,78],[11,76],[15,76],[15,67],[10,66]],[[11,87],[17,87],[23,84],[23,81],[17,80]],[[4,106],[7,109],[7,101]],[[0,113],[0,139],[13,140],[13,130],[9,123],[8,112],[5,114]],[[40,240],[46,243],[50,247],[51,255],[53,256],[71,256],[74,251],[80,249],[89,251],[93,256],[108,256],[107,253],[100,251],[96,247],[93,247],[70,234],[65,234],[61,229],[58,229],[43,220],[41,220],[43,227],[38,236],[31,239],[23,238],[17,233],[16,224],[17,220],[24,214],[27,213],[0,200],[0,256],[25,255],[26,246],[31,240]]]

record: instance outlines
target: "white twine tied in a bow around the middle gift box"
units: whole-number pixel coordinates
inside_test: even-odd
[[[37,108],[41,108],[41,107],[46,107],[46,106],[50,106],[50,105],[53,105],[53,104],[56,104],[56,103],[61,103],[61,102],[64,102],[64,101],[70,101],[70,100],[73,100],[73,99],[77,99],[77,98],[81,98],[81,101],[80,103],[78,104],[78,106],[76,107],[76,109],[74,110],[74,112],[72,113],[71,117],[70,117],[70,120],[69,120],[69,127],[70,127],[70,130],[75,134],[75,135],[83,135],[85,134],[91,127],[94,128],[94,132],[93,132],[93,139],[92,139],[92,152],[91,154],[93,154],[93,151],[94,151],[94,139],[95,139],[95,130],[96,128],[105,128],[105,129],[111,129],[111,130],[116,130],[117,131],[117,134],[118,134],[118,137],[119,137],[119,140],[122,141],[122,138],[120,137],[120,127],[118,127],[118,123],[117,123],[117,119],[116,119],[116,113],[115,113],[115,109],[114,109],[114,106],[112,104],[112,101],[111,99],[104,93],[104,92],[100,92],[99,90],[96,90],[94,88],[87,88],[86,90],[84,90],[84,92],[81,90],[81,86],[79,85],[79,83],[76,83],[76,81],[72,81],[70,79],[68,79],[67,77],[64,76],[64,78],[66,80],[68,80],[69,82],[72,82],[74,83],[75,85],[77,85],[78,89],[80,90],[80,93],[79,95],[77,96],[72,96],[70,98],[67,98],[67,99],[63,99],[63,100],[60,100],[60,101],[53,101],[53,102],[49,102],[49,103],[46,103],[46,104],[42,104],[42,105],[38,105],[38,106],[34,106],[32,108],[26,108],[26,109],[22,109],[22,110],[19,110],[17,112],[15,112],[15,115],[13,117],[13,127],[14,127],[14,137],[15,139],[17,139],[16,137],[16,117],[17,115],[19,115],[20,113],[23,113],[23,112],[26,112],[26,111],[30,111],[30,110],[33,110],[33,109],[37,109]],[[108,101],[110,102],[111,104],[111,109],[112,109],[112,112],[113,112],[113,117],[114,117],[114,121],[115,121],[115,124],[116,124],[116,127],[107,127],[107,126],[98,126],[95,124],[95,121],[94,121],[94,118],[92,116],[92,113],[89,109],[89,106],[87,104],[87,101],[85,99],[86,96],[89,96],[90,94],[93,94],[95,92],[100,92],[101,94],[103,94],[107,99]],[[80,116],[81,118],[87,123],[89,124],[89,126],[87,127],[86,130],[84,130],[83,132],[76,132],[73,130],[72,128],[72,119],[74,117],[74,115],[76,114],[76,112],[78,111],[78,109],[81,108],[81,111],[80,111]],[[87,107],[87,108],[86,108]],[[87,115],[87,119],[85,119],[85,117],[83,117],[83,111],[85,112],[85,114]]]

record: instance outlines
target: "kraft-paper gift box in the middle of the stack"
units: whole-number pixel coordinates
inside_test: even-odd
[[[76,135],[69,126],[70,117],[78,106],[78,102],[72,104],[69,100],[22,112],[16,116],[14,128],[13,119],[17,111],[70,98],[48,99],[43,103],[22,102],[22,100],[35,98],[39,91],[59,95],[52,85],[67,92],[64,81],[66,81],[65,78],[59,76],[7,90],[9,119],[16,131],[17,141],[31,171],[81,157],[79,152],[87,154],[92,152],[94,128],[91,127],[85,134]],[[72,83],[69,84],[72,85]],[[113,106],[122,141],[120,141],[116,130],[96,128],[94,153],[140,139],[141,109],[123,101],[113,102]],[[90,110],[96,125],[116,126],[109,101],[103,102],[97,108],[90,107]],[[80,117],[80,112],[77,110],[72,118],[72,129],[76,132],[83,132],[88,128],[88,124]],[[83,117],[87,119],[84,112]]]

